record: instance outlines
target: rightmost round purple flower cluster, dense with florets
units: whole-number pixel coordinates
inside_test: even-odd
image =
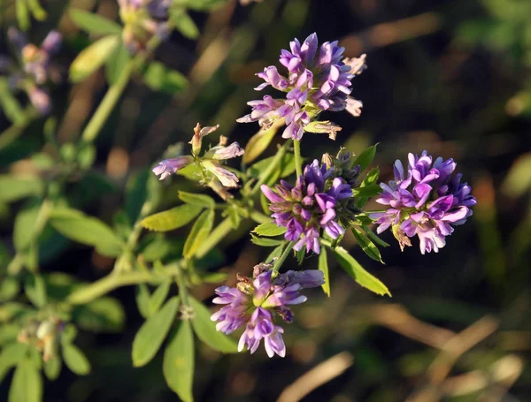
[[[420,253],[437,253],[454,231],[452,226],[465,224],[472,215],[470,207],[477,201],[470,186],[461,183],[462,175],[453,175],[457,163],[452,159],[438,157],[433,162],[427,151],[420,157],[409,154],[408,159],[407,171],[397,160],[395,179],[380,185],[383,193],[376,201],[390,208],[370,216],[379,225],[378,233],[391,227],[402,249],[417,235]]]

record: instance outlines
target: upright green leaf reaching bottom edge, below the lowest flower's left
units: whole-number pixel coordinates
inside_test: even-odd
[[[181,321],[177,333],[166,347],[162,371],[165,381],[183,402],[193,402],[194,335],[188,321]]]

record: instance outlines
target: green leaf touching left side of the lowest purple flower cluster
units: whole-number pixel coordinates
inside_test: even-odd
[[[189,298],[190,306],[194,309],[194,318],[192,326],[196,332],[197,338],[201,339],[206,345],[222,353],[237,353],[238,345],[232,338],[228,338],[223,332],[216,330],[216,323],[212,322],[212,313],[204,304]]]

